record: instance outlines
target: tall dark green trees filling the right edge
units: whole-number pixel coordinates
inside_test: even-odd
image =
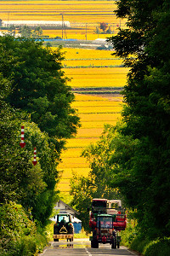
[[[127,104],[121,134],[131,138],[130,144],[137,144],[127,160],[127,151],[120,148],[124,156],[121,164],[113,157],[117,176],[111,183],[121,189],[130,206],[137,208],[144,235],[169,236],[170,4],[167,0],[120,0],[116,4],[116,15],[127,18],[127,29],[119,29],[110,42],[116,55],[125,58],[125,66],[130,67],[123,90]]]

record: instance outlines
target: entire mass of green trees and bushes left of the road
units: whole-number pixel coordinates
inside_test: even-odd
[[[76,134],[79,118],[71,108],[74,96],[61,71],[60,49],[10,36],[0,37],[0,49],[0,250],[35,254],[36,226],[48,223],[58,197],[60,151]],[[21,125],[25,148],[20,147]],[[10,224],[13,215],[23,232],[20,222]]]

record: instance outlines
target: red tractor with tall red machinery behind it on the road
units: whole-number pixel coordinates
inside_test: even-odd
[[[93,231],[90,236],[91,247],[99,247],[99,243],[111,243],[112,248],[119,248],[120,230],[125,230],[126,215],[120,200],[94,199],[90,212],[89,226]]]

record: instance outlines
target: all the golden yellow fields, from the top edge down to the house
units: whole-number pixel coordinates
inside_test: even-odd
[[[115,1],[91,0],[91,1],[59,1],[59,0],[27,0],[27,1],[1,1],[0,18],[2,20],[54,20],[70,21],[71,29],[65,28],[65,38],[95,40],[107,38],[111,34],[96,34],[94,30],[100,22],[108,23],[113,34],[117,27],[125,26],[126,20],[116,19],[114,10]],[[62,14],[62,15],[61,15]],[[43,35],[49,37],[61,37],[60,29],[43,29]],[[122,60],[111,55],[110,50],[96,49],[62,49],[65,51],[63,68],[65,76],[71,79],[68,82],[73,89],[90,87],[122,87],[126,84],[127,68],[125,67],[99,67],[121,65]],[[74,68],[83,66],[83,68]],[[88,66],[98,66],[88,67]],[[88,67],[88,68],[87,68]],[[102,89],[103,90],[103,89]],[[80,92],[81,90],[79,90]],[[63,172],[59,182],[62,192],[70,190],[72,172],[88,176],[90,171],[86,159],[81,157],[82,150],[89,143],[96,143],[102,134],[105,124],[116,125],[116,120],[121,118],[122,96],[81,95],[75,93],[73,108],[77,108],[82,127],[77,136],[66,143],[67,150],[61,154],[62,162],[58,170]]]

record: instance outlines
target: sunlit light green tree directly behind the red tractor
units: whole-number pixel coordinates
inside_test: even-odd
[[[93,198],[120,199],[122,197],[116,187],[110,187],[110,149],[109,140],[103,135],[99,143],[91,144],[82,153],[91,168],[88,177],[78,177],[76,173],[73,173],[71,179],[71,195],[73,196],[71,204],[80,212],[79,217],[86,231],[89,231],[88,207],[91,207]]]

